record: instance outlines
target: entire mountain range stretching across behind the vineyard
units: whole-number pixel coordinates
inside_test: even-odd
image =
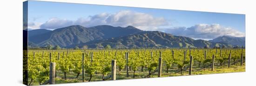
[[[36,29],[28,31],[28,46],[58,45],[62,48],[75,46],[88,48],[202,48],[245,46],[245,37],[221,36],[213,40],[194,40],[159,31],[142,31],[134,26],[67,26],[53,31]]]

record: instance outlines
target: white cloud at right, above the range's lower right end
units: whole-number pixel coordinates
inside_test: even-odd
[[[166,33],[186,36],[194,39],[215,39],[216,37],[228,35],[234,37],[244,37],[245,33],[239,32],[230,27],[219,24],[198,24],[191,27],[172,27],[163,30]]]

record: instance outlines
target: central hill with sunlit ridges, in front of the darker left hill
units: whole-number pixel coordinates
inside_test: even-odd
[[[168,33],[159,31],[143,31],[139,33],[130,34],[128,36],[104,39],[104,40],[93,40],[87,43],[73,45],[74,46],[88,46],[88,48],[104,48],[104,46],[110,45],[112,48],[203,48],[204,46],[215,47],[215,46],[227,46],[232,47],[228,44],[211,43],[206,40],[193,40],[188,37],[174,36]]]

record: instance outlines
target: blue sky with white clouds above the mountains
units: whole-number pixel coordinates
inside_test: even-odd
[[[28,1],[28,29],[72,25],[135,26],[202,40],[223,35],[245,37],[244,14]]]

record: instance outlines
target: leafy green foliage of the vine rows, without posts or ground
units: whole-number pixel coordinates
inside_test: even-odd
[[[172,50],[175,53],[174,56],[172,56],[172,53],[171,53]],[[213,54],[215,55],[216,63],[217,61],[219,61],[219,63],[224,63],[224,62],[226,63],[229,57],[230,50],[232,51],[231,60],[233,62],[236,60],[239,60],[242,53],[242,49],[222,49],[222,56],[220,56],[220,52],[219,52],[220,49],[217,49],[218,51],[217,53],[216,53],[216,49],[211,49],[211,48],[210,49],[191,49],[191,56],[194,57],[193,61],[195,61],[196,63],[196,65],[193,65],[193,67],[209,68],[208,65],[211,64]],[[88,56],[87,53],[85,53],[85,50],[71,50],[71,52],[68,54],[66,54],[65,52],[63,59],[62,59],[62,54],[60,54],[60,60],[58,60],[57,58],[58,53],[60,51],[44,50],[43,57],[42,57],[42,50],[29,51],[28,60],[27,60],[28,81],[31,82],[31,79],[33,79],[31,85],[37,85],[38,83],[42,84],[43,82],[49,79],[49,54],[48,53],[52,53],[51,61],[56,63],[55,68],[58,71],[58,73],[59,71],[61,71],[61,73],[67,73],[68,77],[70,76],[69,75],[70,72],[72,72],[72,74],[77,73],[77,75],[81,73],[81,69],[82,69],[81,53],[85,53],[86,54],[84,58],[85,73],[87,75],[88,74],[93,75],[97,71],[97,77],[93,78],[93,81],[99,78],[98,74],[102,74],[103,76],[106,74],[109,75],[109,73],[111,73],[111,60],[116,60],[116,67],[120,68],[119,71],[123,70],[126,66],[126,59],[124,55],[125,52],[129,52],[128,66],[131,67],[134,73],[138,69],[141,69],[142,66],[144,66],[145,71],[148,71],[148,72],[150,71],[151,73],[154,72],[158,67],[159,51],[162,52],[163,70],[170,69],[170,68],[173,68],[172,70],[177,70],[178,68],[183,69],[183,67],[185,68],[185,66],[189,66],[189,50],[187,49],[152,49],[152,50],[131,49],[131,50],[86,50],[86,51],[94,53],[92,62],[91,62],[90,56]],[[106,51],[105,55],[104,55],[104,51]],[[150,54],[151,51],[153,52],[153,58],[151,58],[151,54]],[[184,51],[188,52],[186,54],[186,60],[184,60]],[[206,59],[204,58],[203,51],[207,52]],[[35,52],[35,59],[33,54],[34,52]],[[117,52],[116,57],[115,57],[115,52]],[[137,54],[138,52],[139,52],[139,55]],[[244,49],[243,49],[243,56],[245,57]],[[198,66],[197,64],[202,64],[202,66]],[[219,65],[216,65],[216,66],[219,66]],[[187,70],[183,70],[183,72],[185,71]],[[139,71],[138,74],[140,74],[141,76],[142,73]],[[60,75],[61,74],[57,74],[57,79],[61,77]],[[122,75],[123,73],[120,74],[120,76]],[[153,73],[152,75],[155,76],[155,74]],[[138,77],[135,77],[135,78],[138,78]],[[80,82],[80,80],[78,79],[77,81]]]

